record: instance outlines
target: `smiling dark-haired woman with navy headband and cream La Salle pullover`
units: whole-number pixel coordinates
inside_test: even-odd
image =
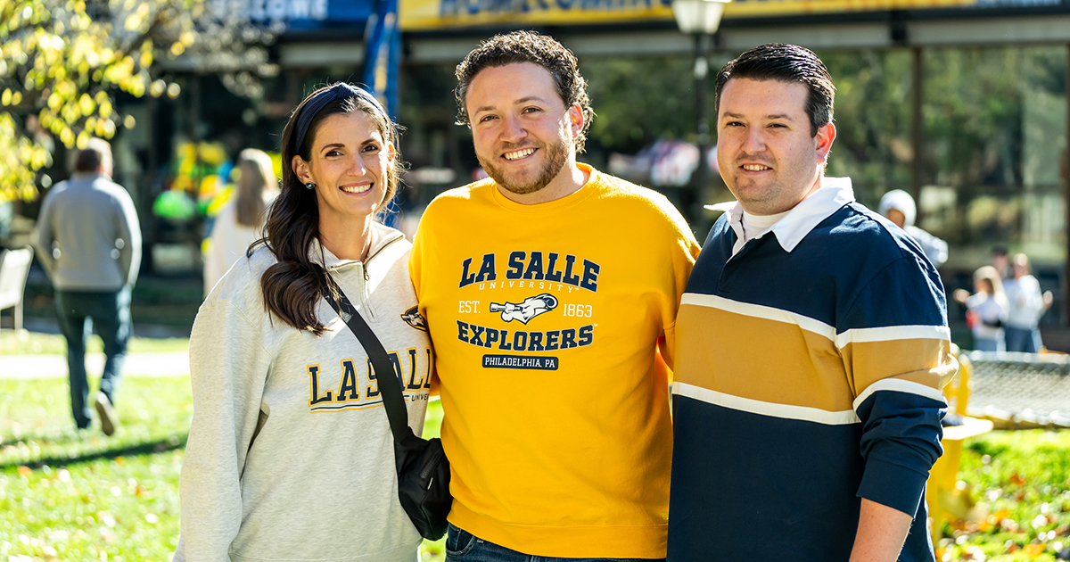
[[[379,103],[348,83],[290,116],[266,237],[194,323],[175,561],[416,560],[376,373],[324,300],[340,292],[367,320],[419,435],[432,356],[410,244],[373,221],[397,188],[396,145]]]

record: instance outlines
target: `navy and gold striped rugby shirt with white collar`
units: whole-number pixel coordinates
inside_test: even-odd
[[[846,561],[860,498],[915,516],[942,454],[949,354],[935,268],[899,228],[820,189],[740,242],[713,227],[676,321],[669,562]]]

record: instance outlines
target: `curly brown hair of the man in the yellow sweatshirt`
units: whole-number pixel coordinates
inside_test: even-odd
[[[494,35],[483,42],[457,65],[457,124],[472,126],[464,98],[469,86],[484,69],[531,62],[546,69],[553,76],[557,95],[565,103],[565,109],[574,105],[583,111],[583,128],[576,136],[576,151],[583,152],[587,130],[595,112],[587,97],[587,82],[580,76],[579,64],[572,51],[553,37],[534,31],[514,31]]]

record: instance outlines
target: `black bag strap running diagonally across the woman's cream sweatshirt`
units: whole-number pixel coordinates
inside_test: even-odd
[[[326,277],[326,271],[323,272],[323,275]],[[368,353],[368,359],[371,360],[371,367],[376,370],[376,381],[379,383],[379,393],[383,397],[383,407],[386,408],[386,419],[391,422],[391,432],[394,434],[394,439],[400,440],[404,439],[407,435],[414,435],[412,428],[409,427],[409,409],[406,408],[404,398],[401,396],[401,379],[394,370],[389,358],[386,356],[382,341],[371,331],[371,326],[364,320],[361,313],[356,312],[346,293],[341,292],[340,287],[338,287],[338,294],[341,297],[340,303],[331,294],[330,289],[324,291],[324,298],[331,303],[331,307],[338,313],[338,316],[361,341],[364,350]]]

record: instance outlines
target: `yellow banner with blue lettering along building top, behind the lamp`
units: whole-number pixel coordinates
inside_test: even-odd
[[[992,5],[984,0],[735,0],[724,18]],[[672,0],[400,0],[401,29],[673,19]]]

